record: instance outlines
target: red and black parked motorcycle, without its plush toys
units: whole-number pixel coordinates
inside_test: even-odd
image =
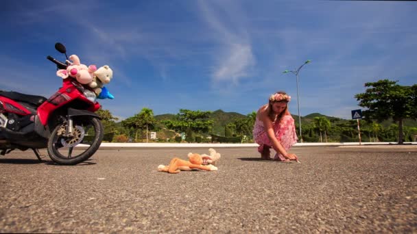
[[[55,48],[67,56],[64,45],[56,43]],[[58,69],[69,66],[51,56],[47,59]],[[49,99],[0,92],[0,154],[30,148],[42,161],[38,149],[47,148],[49,157],[58,164],[85,161],[103,140],[103,125],[94,113],[100,107],[96,99],[95,92],[71,77],[63,79],[62,88]]]

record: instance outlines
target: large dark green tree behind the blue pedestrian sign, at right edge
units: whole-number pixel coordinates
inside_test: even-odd
[[[364,116],[379,122],[392,118],[398,122],[398,144],[403,144],[403,120],[416,119],[416,85],[400,86],[398,81],[382,79],[365,83],[366,92],[356,94],[359,106],[367,107]]]

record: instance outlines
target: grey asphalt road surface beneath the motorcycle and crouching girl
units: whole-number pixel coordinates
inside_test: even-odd
[[[1,233],[416,233],[417,146],[215,148],[217,172],[158,172],[208,148],[100,148],[86,163],[0,157]],[[45,151],[41,151],[45,154]]]

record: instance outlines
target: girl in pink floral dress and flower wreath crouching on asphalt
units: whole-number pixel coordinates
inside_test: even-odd
[[[285,92],[272,94],[269,103],[261,106],[257,112],[253,137],[259,144],[258,151],[262,159],[270,158],[270,148],[274,148],[277,161],[298,161],[298,157],[287,150],[296,144],[298,138],[294,118],[288,112],[288,102],[291,96]]]

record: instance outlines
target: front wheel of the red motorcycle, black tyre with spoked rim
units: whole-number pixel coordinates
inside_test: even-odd
[[[67,136],[67,123],[53,129],[48,140],[48,154],[52,161],[62,165],[75,165],[90,158],[102,144],[102,122],[92,116],[73,118],[73,135]],[[75,148],[75,146],[77,146]]]

